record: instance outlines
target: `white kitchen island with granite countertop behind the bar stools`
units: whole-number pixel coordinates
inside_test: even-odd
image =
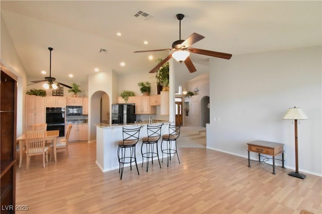
[[[142,138],[147,136],[147,125],[160,125],[164,124],[161,129],[161,136],[164,134],[169,134],[169,121],[158,121],[153,120],[152,123],[148,122],[138,122],[131,124],[96,124],[96,164],[103,172],[107,172],[110,170],[118,169],[119,162],[117,158],[117,149],[118,142],[123,140],[123,127],[127,128],[138,128],[141,126],[139,141],[136,145],[136,161],[137,164],[142,163],[142,155],[141,155],[141,145]],[[160,138],[158,142],[158,152],[159,157],[162,158],[161,151],[161,141]],[[145,160],[145,159],[144,159]],[[146,160],[145,160],[146,161]],[[129,166],[129,164],[125,165]]]

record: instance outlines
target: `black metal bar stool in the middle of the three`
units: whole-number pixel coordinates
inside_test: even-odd
[[[157,157],[157,160],[159,161],[159,166],[161,168],[160,160],[159,160],[159,153],[157,149],[157,142],[161,137],[161,128],[163,124],[161,125],[147,125],[147,137],[142,138],[142,145],[141,145],[141,154],[142,154],[142,167],[143,167],[143,158],[146,158],[146,172],[149,167],[149,158],[152,159],[153,164],[153,158]],[[145,144],[145,152],[143,153],[143,145]],[[154,144],[156,146],[156,152],[154,151]]]

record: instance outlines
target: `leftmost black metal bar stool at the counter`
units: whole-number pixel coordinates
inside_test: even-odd
[[[129,163],[130,168],[132,170],[132,163],[135,162],[137,174],[140,174],[136,164],[136,151],[135,151],[135,146],[139,141],[140,129],[141,127],[138,127],[138,128],[123,127],[123,140],[119,141],[119,147],[117,149],[117,157],[119,160],[119,173],[121,172],[120,179],[122,179],[125,163]],[[129,152],[126,152],[127,148],[130,149]]]

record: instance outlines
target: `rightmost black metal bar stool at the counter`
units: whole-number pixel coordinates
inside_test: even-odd
[[[163,162],[163,154],[167,154],[167,163],[169,167],[169,160],[171,160],[171,155],[177,153],[178,161],[178,151],[177,151],[177,138],[180,135],[180,125],[171,125],[169,124],[169,134],[162,136],[162,142],[161,142],[161,150],[162,150],[162,162]],[[167,149],[162,148],[163,141],[167,141]],[[172,142],[174,142],[174,145],[172,145]],[[173,147],[174,146],[174,147]]]

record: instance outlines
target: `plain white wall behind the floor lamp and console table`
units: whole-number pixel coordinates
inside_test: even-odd
[[[296,106],[309,117],[298,126],[299,170],[321,176],[321,70],[321,46],[211,59],[207,148],[247,157],[247,142],[280,142],[294,169],[294,124],[282,118]]]

